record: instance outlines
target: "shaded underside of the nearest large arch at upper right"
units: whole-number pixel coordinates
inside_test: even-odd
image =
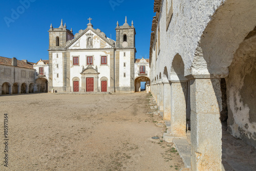
[[[254,0],[226,0],[216,10],[201,36],[190,74],[228,75],[234,53],[256,26],[255,8]]]

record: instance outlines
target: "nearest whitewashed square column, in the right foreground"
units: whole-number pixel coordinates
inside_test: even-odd
[[[222,170],[220,79],[191,79],[191,169]]]

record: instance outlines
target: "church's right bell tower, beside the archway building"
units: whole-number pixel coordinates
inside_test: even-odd
[[[134,62],[136,56],[135,48],[136,31],[133,25],[125,22],[116,27],[116,53],[115,53],[115,88],[116,92],[132,93],[135,92],[134,87]]]

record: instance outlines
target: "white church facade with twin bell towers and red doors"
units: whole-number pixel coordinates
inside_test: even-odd
[[[75,35],[66,24],[49,30],[49,90],[134,92],[135,28],[116,27],[116,41],[90,23]]]

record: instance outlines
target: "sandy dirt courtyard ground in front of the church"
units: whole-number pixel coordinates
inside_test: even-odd
[[[179,170],[165,127],[145,93],[0,97],[0,160],[8,114],[8,168],[0,170]],[[151,137],[159,136],[159,140]]]

